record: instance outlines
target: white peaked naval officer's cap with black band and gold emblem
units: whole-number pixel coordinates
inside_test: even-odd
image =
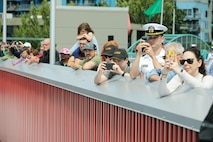
[[[157,24],[157,23],[148,23],[143,26],[145,30],[146,36],[159,36],[163,35],[168,28],[164,25]]]

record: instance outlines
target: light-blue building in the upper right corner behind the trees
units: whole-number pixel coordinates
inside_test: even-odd
[[[176,6],[178,9],[181,9],[185,12],[186,16],[183,20],[190,25],[190,33],[199,36],[206,42],[210,42],[211,36],[209,33],[212,33],[210,30],[212,24],[212,10],[211,12],[208,12],[210,1],[177,0]]]

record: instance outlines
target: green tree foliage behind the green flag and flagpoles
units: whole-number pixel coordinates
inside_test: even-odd
[[[117,0],[118,7],[129,7],[131,23],[136,24],[146,24],[148,22],[160,23],[161,14],[153,15],[151,21],[149,21],[148,16],[144,14],[144,11],[154,3],[155,0]],[[185,15],[182,10],[176,8],[174,0],[164,0],[163,25],[168,27],[167,33],[172,33],[174,8],[176,11],[175,31],[176,33],[182,33],[182,31],[180,30],[180,25],[183,24],[183,18]]]

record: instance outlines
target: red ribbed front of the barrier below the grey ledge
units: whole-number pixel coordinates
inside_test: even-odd
[[[197,142],[195,131],[0,71],[2,142]]]

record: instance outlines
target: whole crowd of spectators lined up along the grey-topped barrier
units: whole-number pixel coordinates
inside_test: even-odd
[[[76,43],[71,47],[55,46],[55,65],[74,70],[96,71],[94,83],[100,85],[116,75],[130,79],[158,81],[159,95],[172,94],[187,84],[191,88],[213,88],[213,47],[208,55],[208,66],[198,47],[184,49],[181,43],[165,43],[167,27],[157,23],[144,25],[146,39],[135,46],[136,57],[132,63],[126,48],[119,47],[115,40],[107,41],[99,54],[98,42],[88,23],[78,27]],[[0,57],[13,60],[12,65],[50,63],[50,38],[41,41],[37,50],[31,43],[14,41],[1,43]]]

